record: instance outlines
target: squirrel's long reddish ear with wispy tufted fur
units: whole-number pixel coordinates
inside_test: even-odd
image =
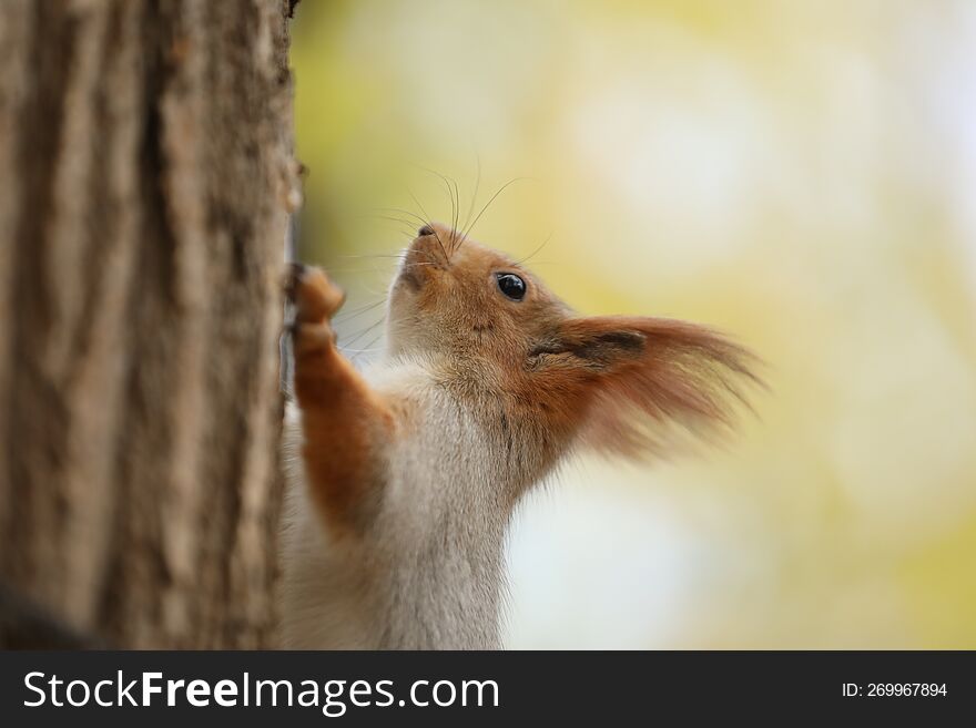
[[[659,452],[678,424],[728,424],[756,360],[704,327],[659,318],[562,321],[529,355],[533,379],[584,444],[626,455]],[[556,402],[553,402],[556,403]]]

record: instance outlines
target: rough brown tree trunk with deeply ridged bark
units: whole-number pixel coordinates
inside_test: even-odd
[[[0,2],[0,643],[267,644],[288,10]]]

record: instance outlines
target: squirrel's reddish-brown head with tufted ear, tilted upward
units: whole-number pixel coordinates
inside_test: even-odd
[[[626,454],[655,449],[655,423],[728,422],[742,384],[758,381],[751,355],[714,331],[580,317],[518,262],[439,224],[418,230],[394,280],[389,346],[449,362],[468,391],[556,439]]]

